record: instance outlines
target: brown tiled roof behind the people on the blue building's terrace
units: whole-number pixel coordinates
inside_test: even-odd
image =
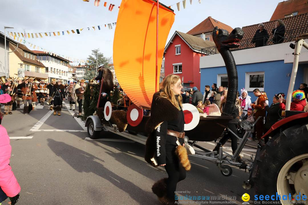
[[[284,22],[286,26],[285,39],[283,42],[294,41],[295,37],[298,34],[308,33],[308,13],[284,18],[282,19],[282,21]],[[275,22],[276,20],[269,21],[269,22],[263,22],[264,28],[267,30],[268,34],[270,35],[269,37],[270,39],[273,38],[272,30],[275,27]],[[241,46],[237,48],[236,50],[255,47],[255,45],[250,42],[258,29],[257,26],[258,24],[254,24],[251,26],[244,26],[242,28],[244,31],[244,37],[240,42]],[[271,45],[271,44],[273,44],[273,42],[267,41],[267,45]]]

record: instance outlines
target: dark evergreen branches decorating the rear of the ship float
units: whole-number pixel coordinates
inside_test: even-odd
[[[93,93],[91,93],[90,86],[92,86]],[[98,84],[88,84],[86,90],[83,93],[83,115],[78,116],[81,120],[86,120],[88,116],[93,115],[97,110],[97,101],[99,97],[99,85]]]

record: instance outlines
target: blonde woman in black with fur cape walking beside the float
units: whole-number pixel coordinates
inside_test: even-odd
[[[168,178],[157,181],[152,191],[160,203],[174,204],[176,185],[185,179],[190,163],[184,148],[184,113],[181,79],[177,75],[164,78],[161,92],[154,93],[151,117],[146,124],[150,135],[146,142],[145,160],[153,166],[163,166]],[[183,146],[182,146],[183,145]],[[152,159],[157,160],[157,164]]]

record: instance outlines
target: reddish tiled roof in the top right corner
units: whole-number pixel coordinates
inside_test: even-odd
[[[298,12],[298,15],[308,13],[308,0],[288,0],[278,3],[270,21],[285,18],[285,15]]]

